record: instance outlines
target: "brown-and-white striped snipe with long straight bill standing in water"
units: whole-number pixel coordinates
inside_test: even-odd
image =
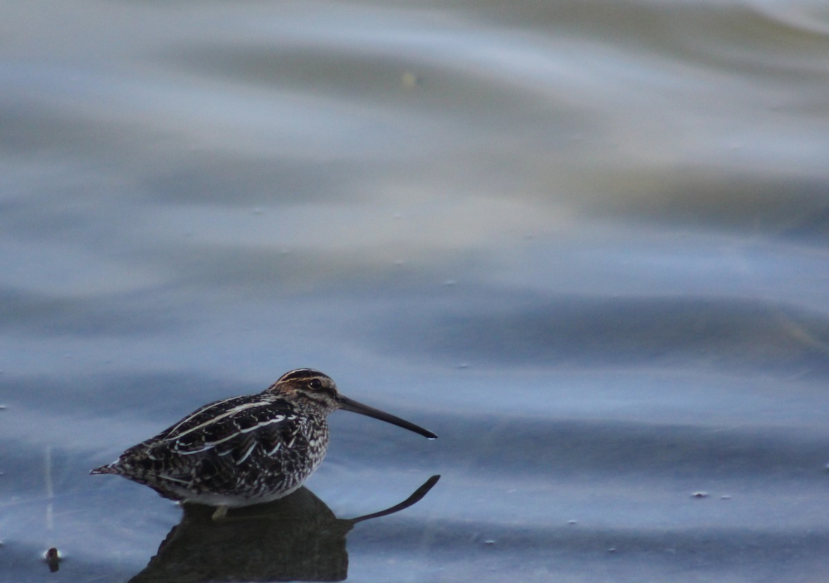
[[[314,369],[284,373],[262,393],[211,402],[90,474],[112,474],[167,499],[228,508],[267,503],[303,485],[328,446],[327,416],[337,409],[374,417],[429,439],[414,423],[342,395]]]

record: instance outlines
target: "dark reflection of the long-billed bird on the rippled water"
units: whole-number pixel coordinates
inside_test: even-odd
[[[311,490],[240,508],[216,524],[211,508],[185,504],[148,566],[129,583],[204,581],[343,581],[348,576],[346,535],[356,523],[418,503],[438,482],[434,475],[408,499],[359,518],[337,518]],[[405,528],[396,533],[403,540]]]

